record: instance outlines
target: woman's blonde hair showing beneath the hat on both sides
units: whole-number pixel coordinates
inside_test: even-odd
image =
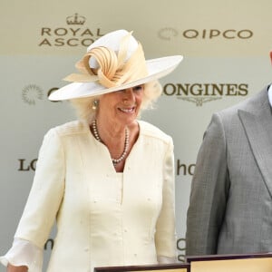
[[[162,92],[161,85],[158,81],[145,83],[143,85],[144,88],[140,113],[142,110],[153,109],[154,102],[157,101]],[[99,101],[99,98],[100,96],[76,98],[70,100],[70,102],[75,109],[78,118],[82,121],[87,121],[87,123],[91,123],[95,119],[95,115],[97,112],[97,109],[93,109],[93,102],[97,100]],[[99,107],[99,103],[97,107]]]

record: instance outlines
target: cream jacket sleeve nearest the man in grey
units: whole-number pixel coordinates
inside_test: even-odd
[[[157,256],[175,259],[177,256],[176,240],[174,155],[173,142],[170,139],[164,158],[162,207],[156,226]]]

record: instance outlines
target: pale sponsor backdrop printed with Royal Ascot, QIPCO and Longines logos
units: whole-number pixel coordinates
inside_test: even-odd
[[[142,116],[175,143],[182,261],[190,182],[211,114],[270,83],[271,8],[270,0],[2,1],[0,254],[13,241],[44,133],[75,118],[68,103],[49,102],[48,94],[63,86],[61,79],[75,71],[89,44],[125,28],[139,38],[147,59],[184,55],[180,67],[160,81],[158,109]],[[53,234],[44,246],[44,270]]]

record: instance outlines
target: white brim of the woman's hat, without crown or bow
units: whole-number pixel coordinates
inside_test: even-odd
[[[128,89],[143,83],[149,83],[171,73],[182,61],[183,56],[172,55],[146,61],[149,74],[131,83],[124,83],[112,88],[105,88],[99,83],[69,83],[55,92],[52,92],[48,99],[51,101],[71,100],[90,96],[102,95],[109,92],[117,92]]]

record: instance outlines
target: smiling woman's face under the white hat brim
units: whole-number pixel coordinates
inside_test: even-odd
[[[113,123],[129,125],[138,116],[141,108],[144,85],[138,85],[118,92],[103,94],[99,102],[99,118]]]

